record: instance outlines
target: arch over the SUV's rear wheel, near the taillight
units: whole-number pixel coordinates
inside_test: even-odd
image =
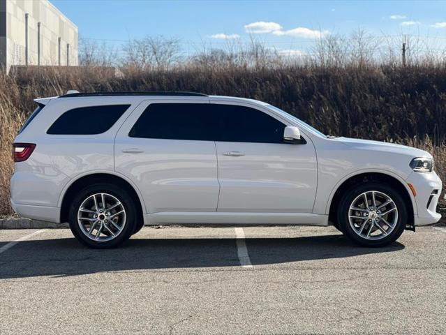
[[[101,182],[114,184],[120,186],[121,188],[125,188],[135,200],[138,217],[144,221],[144,224],[147,223],[147,216],[144,215],[144,213],[147,212],[146,206],[138,188],[126,177],[110,172],[92,172],[73,178],[70,183],[65,186],[64,190],[61,192],[61,196],[59,197],[59,222],[64,223],[68,221],[68,208],[70,200],[73,199],[73,196],[77,191],[80,191],[81,188],[89,184]]]

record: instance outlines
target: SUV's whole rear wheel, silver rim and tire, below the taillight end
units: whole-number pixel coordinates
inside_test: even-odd
[[[70,229],[91,248],[114,248],[135,230],[136,209],[130,195],[111,184],[82,189],[69,209]]]

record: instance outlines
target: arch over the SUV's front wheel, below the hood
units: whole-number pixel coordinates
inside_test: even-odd
[[[417,214],[417,205],[413,199],[410,188],[406,183],[392,174],[386,172],[358,172],[356,174],[350,174],[345,177],[343,181],[340,181],[329,198],[327,203],[327,212],[329,215],[329,221],[336,222],[336,214],[339,209],[339,202],[341,201],[343,193],[354,184],[365,183],[368,181],[385,182],[392,185],[397,191],[401,193],[403,199],[408,205],[408,223],[406,229],[415,230],[415,214]]]

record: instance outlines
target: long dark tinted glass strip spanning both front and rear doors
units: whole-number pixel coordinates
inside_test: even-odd
[[[283,143],[285,125],[250,107],[153,103],[128,134],[171,140]]]

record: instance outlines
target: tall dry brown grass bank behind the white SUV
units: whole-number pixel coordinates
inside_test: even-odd
[[[446,66],[205,66],[171,70],[34,68],[0,75],[0,215],[10,214],[11,143],[33,99],[80,91],[202,91],[266,101],[332,135],[394,140],[436,158],[446,178]],[[427,136],[426,136],[427,135]]]

